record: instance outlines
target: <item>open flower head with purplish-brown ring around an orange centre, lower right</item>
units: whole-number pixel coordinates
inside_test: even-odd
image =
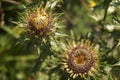
[[[67,50],[67,56],[64,60],[63,68],[70,73],[73,78],[77,76],[84,77],[91,75],[96,71],[97,55],[93,45],[88,40],[82,40],[77,45],[72,45]]]

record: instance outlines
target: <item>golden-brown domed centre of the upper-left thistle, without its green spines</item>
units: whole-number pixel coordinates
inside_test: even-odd
[[[53,27],[53,20],[45,9],[35,8],[26,17],[26,28],[31,34],[45,37]]]

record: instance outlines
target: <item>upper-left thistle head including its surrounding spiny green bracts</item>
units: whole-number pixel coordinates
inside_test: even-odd
[[[37,4],[36,4],[37,3]],[[35,1],[20,13],[19,26],[25,28],[24,38],[29,38],[36,42],[49,41],[56,36],[61,28],[61,21],[58,17],[61,15],[56,12],[56,8],[60,6],[59,1]],[[36,41],[35,41],[36,40]]]

